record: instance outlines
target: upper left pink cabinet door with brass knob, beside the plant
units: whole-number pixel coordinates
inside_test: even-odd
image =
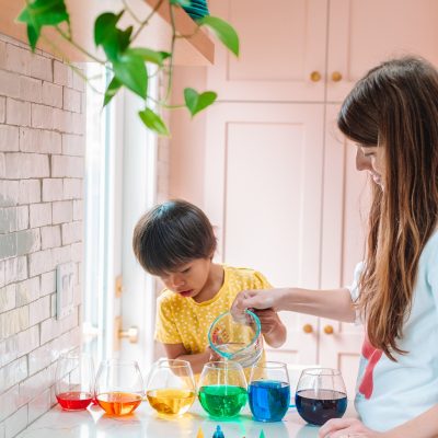
[[[216,0],[240,36],[240,57],[216,46],[208,87],[224,101],[323,101],[327,0]],[[311,73],[318,72],[320,79]]]

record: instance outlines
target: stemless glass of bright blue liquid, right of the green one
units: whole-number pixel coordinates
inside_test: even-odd
[[[289,408],[290,384],[286,364],[267,361],[251,370],[250,408],[257,422],[280,422]]]

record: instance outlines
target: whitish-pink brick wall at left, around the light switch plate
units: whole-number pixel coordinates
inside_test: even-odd
[[[56,360],[80,343],[56,319],[56,266],[82,266],[84,87],[61,61],[0,35],[0,438],[55,403]]]

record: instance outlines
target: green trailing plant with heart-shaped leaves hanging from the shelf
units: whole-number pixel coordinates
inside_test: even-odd
[[[68,44],[84,54],[90,61],[104,65],[110,70],[112,80],[104,92],[103,105],[107,105],[120,89],[128,89],[145,101],[145,108],[138,113],[145,126],[159,135],[168,136],[170,132],[159,114],[160,108],[172,110],[185,106],[193,117],[211,105],[217,99],[217,94],[214,91],[198,92],[192,88],[186,88],[184,90],[184,104],[174,106],[169,104],[176,39],[187,39],[200,27],[208,27],[231,53],[239,56],[239,37],[234,28],[226,21],[209,15],[205,1],[192,0],[192,2],[191,0],[159,0],[147,16],[137,16],[129,8],[127,0],[123,0],[122,9],[118,13],[111,11],[101,13],[94,21],[94,44],[103,49],[103,59],[89,53],[74,39],[65,0],[26,0],[26,5],[18,20],[27,25],[27,39],[33,51],[42,37],[43,27],[50,26]],[[171,18],[172,38],[170,47],[168,50],[160,51],[149,47],[136,46],[138,35],[150,23],[152,16],[163,3],[168,3]],[[205,3],[204,9],[201,3]],[[175,8],[184,8],[195,20],[197,27],[194,34],[177,34],[174,18]],[[124,14],[130,14],[137,25],[126,28],[118,27],[119,20]],[[60,53],[59,48],[55,48]],[[69,62],[68,59],[67,62]],[[69,65],[76,69],[70,62]],[[76,70],[83,77],[83,73],[78,69]],[[168,77],[166,92],[163,100],[153,102],[148,95],[148,82],[151,74],[159,72],[163,72]],[[89,81],[89,78],[84,77],[84,79]]]

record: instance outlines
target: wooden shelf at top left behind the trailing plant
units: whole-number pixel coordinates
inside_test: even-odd
[[[140,18],[145,18],[160,2],[160,0],[128,0],[130,9]],[[74,39],[88,51],[100,56],[94,47],[93,23],[95,18],[104,11],[119,12],[123,9],[118,0],[67,0],[67,8],[72,23]],[[26,26],[15,22],[20,11],[24,8],[24,1],[1,0],[2,12],[0,14],[0,33],[27,43]],[[178,66],[208,66],[215,60],[215,45],[209,36],[196,31],[196,23],[181,8],[174,9],[175,27],[178,35],[193,35],[189,38],[178,38],[175,45],[175,65]],[[159,50],[170,50],[171,44],[171,18],[169,1],[164,0],[158,9],[151,22],[145,27],[136,39],[135,46],[147,46]],[[138,26],[136,21],[125,13],[119,22],[120,27],[128,25]],[[71,61],[87,61],[83,54],[62,41],[50,28],[43,32],[45,38],[41,38],[37,47],[44,51],[60,56],[53,47],[55,43],[61,53]]]

